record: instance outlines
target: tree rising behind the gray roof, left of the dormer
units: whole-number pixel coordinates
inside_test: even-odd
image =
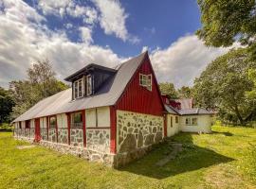
[[[11,81],[9,88],[15,102],[11,117],[15,118],[47,96],[67,89],[68,86],[55,75],[48,60],[38,60],[27,69],[27,80]]]

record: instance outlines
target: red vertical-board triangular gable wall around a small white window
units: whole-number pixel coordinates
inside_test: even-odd
[[[139,85],[139,73],[152,74],[152,91]],[[164,108],[157,89],[155,73],[147,55],[119,98],[117,110],[163,115]]]

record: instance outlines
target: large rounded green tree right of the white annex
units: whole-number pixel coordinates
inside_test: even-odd
[[[247,58],[247,49],[239,48],[213,60],[194,80],[193,95],[197,105],[217,109],[244,125],[256,111],[253,100],[246,94],[253,90],[247,72],[256,68],[256,62]]]

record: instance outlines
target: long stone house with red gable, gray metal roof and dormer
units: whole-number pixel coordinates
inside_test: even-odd
[[[166,136],[166,111],[147,52],[116,68],[89,64],[65,80],[72,88],[14,120],[16,138],[119,166]]]

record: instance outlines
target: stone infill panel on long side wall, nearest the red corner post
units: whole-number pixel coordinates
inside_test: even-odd
[[[88,149],[110,152],[110,129],[86,129],[86,146]]]

